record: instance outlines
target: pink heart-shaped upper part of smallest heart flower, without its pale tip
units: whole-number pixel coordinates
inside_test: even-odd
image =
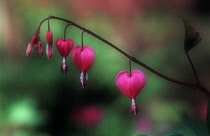
[[[74,46],[74,41],[70,38],[59,38],[56,47],[62,57],[67,57]]]

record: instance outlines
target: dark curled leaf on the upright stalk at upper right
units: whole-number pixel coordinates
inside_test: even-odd
[[[200,34],[195,31],[192,27],[189,19],[185,19],[180,17],[184,23],[185,27],[185,40],[184,40],[184,49],[185,52],[188,52],[192,48],[194,48],[198,43],[201,42],[202,38],[200,38]]]

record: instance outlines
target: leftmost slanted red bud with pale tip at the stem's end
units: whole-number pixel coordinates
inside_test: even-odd
[[[34,36],[32,36],[28,46],[27,46],[27,49],[26,49],[26,56],[29,56],[31,55],[31,52],[33,50],[33,48],[35,48],[34,50],[36,50],[36,46],[37,46],[37,43],[39,41],[39,36],[38,34],[35,34]]]

